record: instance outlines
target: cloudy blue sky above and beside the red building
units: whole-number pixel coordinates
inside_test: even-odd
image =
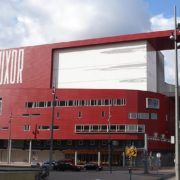
[[[0,49],[172,29],[174,5],[180,22],[180,0],[0,0]]]

